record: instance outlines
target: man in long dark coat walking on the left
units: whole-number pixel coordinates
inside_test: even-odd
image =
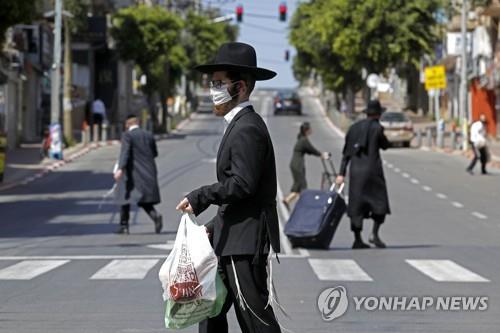
[[[129,115],[125,123],[118,168],[114,178],[118,182],[125,177],[125,200],[137,203],[155,224],[158,234],[163,227],[162,216],[154,206],[160,203],[155,158],[158,156],[153,134],[139,128],[135,115]],[[118,234],[129,233],[130,203],[121,206]]]

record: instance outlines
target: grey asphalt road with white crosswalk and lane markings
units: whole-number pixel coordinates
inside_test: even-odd
[[[288,163],[302,121],[311,141],[330,151],[336,166],[343,139],[317,100],[303,96],[304,115],[273,116],[272,94],[252,102],[273,137],[280,195],[291,186]],[[165,227],[160,235],[136,209],[131,234],[114,235],[117,207],[102,201],[112,186],[119,147],[93,151],[29,185],[0,193],[0,332],[164,332],[158,271],[175,238],[185,193],[215,181],[222,120],[195,115],[174,137],[158,142]],[[417,149],[383,153],[393,214],[382,227],[385,250],[353,251],[344,217],[325,251],[292,249],[275,265],[281,323],[306,332],[498,332],[500,325],[500,174],[470,176],[462,157]],[[318,188],[321,164],[307,159]],[[280,206],[282,223],[287,214]],[[214,208],[200,216],[207,221]],[[368,237],[371,222],[366,222]],[[118,270],[116,268],[119,268]],[[347,290],[347,312],[324,321],[318,295]],[[354,297],[488,297],[486,311],[356,309]],[[370,304],[368,304],[370,305]],[[231,331],[238,332],[234,315]],[[183,332],[196,332],[196,328]]]

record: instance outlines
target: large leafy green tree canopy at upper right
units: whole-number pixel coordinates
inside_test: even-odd
[[[316,0],[299,5],[291,21],[290,41],[308,68],[328,88],[359,88],[362,68],[383,73],[389,67],[418,65],[437,41],[434,13],[441,0]],[[307,55],[307,57],[306,57]],[[301,72],[302,71],[302,72]]]

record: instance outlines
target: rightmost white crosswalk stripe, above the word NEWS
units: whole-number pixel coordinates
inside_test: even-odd
[[[406,260],[408,264],[439,282],[489,282],[451,260]]]

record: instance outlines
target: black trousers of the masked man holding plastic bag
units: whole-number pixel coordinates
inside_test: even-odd
[[[231,264],[231,257],[234,261],[238,282],[243,297],[248,306],[252,308],[255,316],[247,307],[245,310],[240,306],[240,300],[237,298],[238,289]],[[262,257],[259,264],[252,264],[252,255],[225,256],[219,258],[219,274],[227,288],[227,298],[221,313],[214,318],[204,320],[199,325],[200,333],[228,333],[228,324],[226,314],[234,304],[236,318],[242,333],[280,333],[280,326],[276,321],[271,306],[264,309],[269,295],[267,290],[267,262]]]

